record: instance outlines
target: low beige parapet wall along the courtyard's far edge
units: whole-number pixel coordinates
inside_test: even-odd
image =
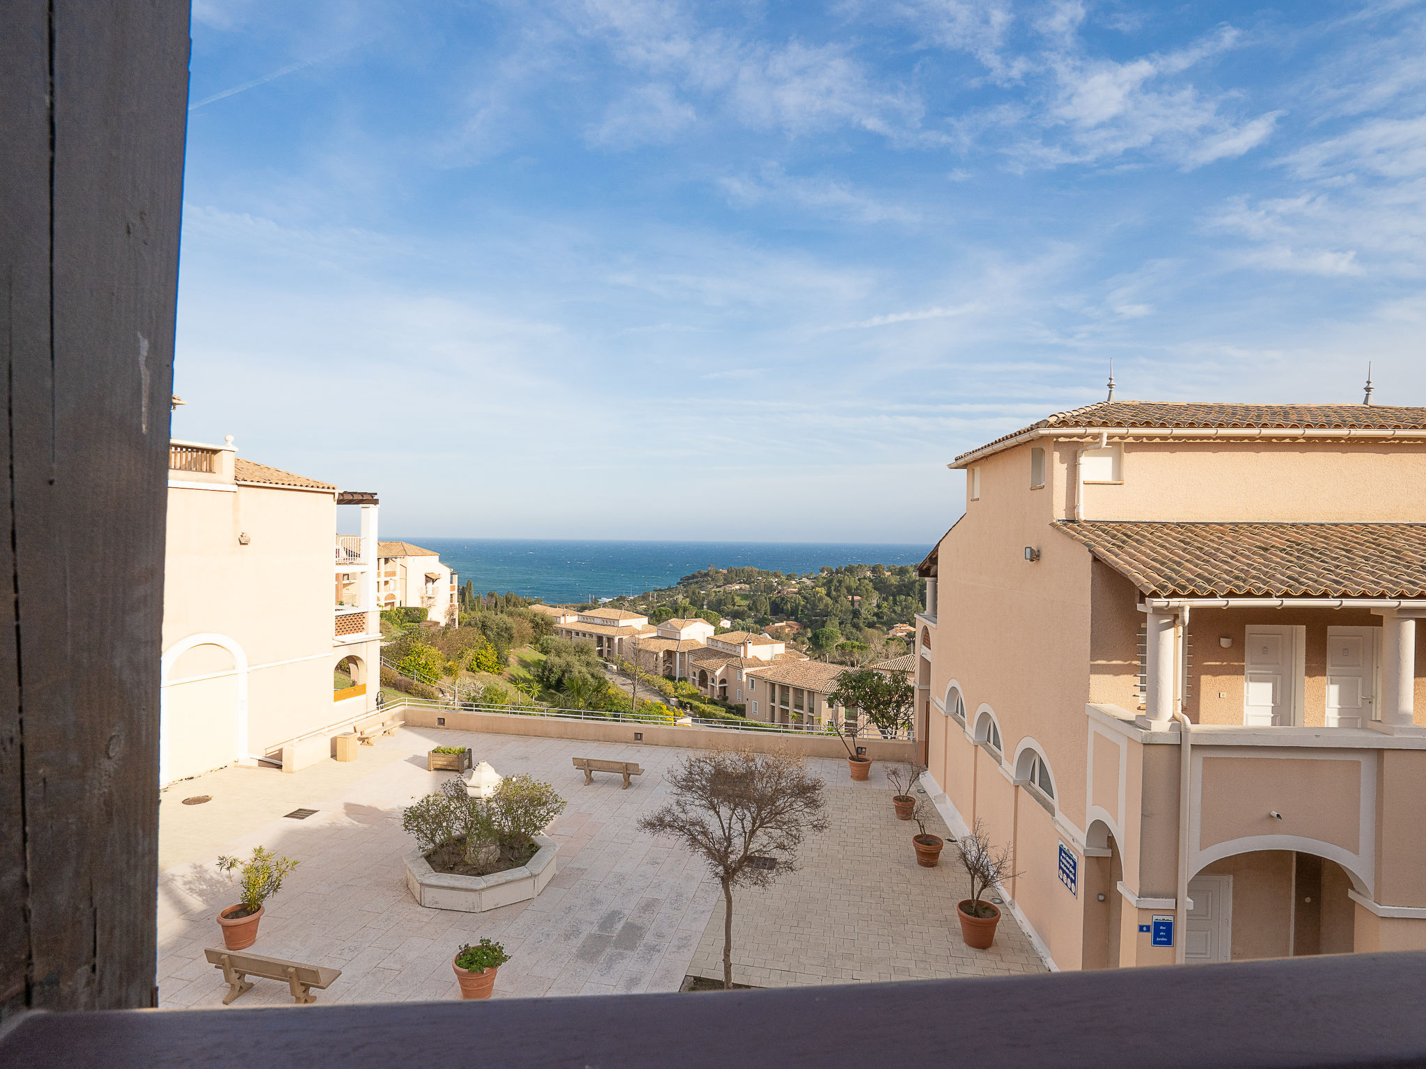
[[[388,710],[392,706],[386,707]],[[466,713],[458,708],[396,706],[406,727],[434,727],[451,731],[483,731],[496,735],[535,738],[582,738],[589,743],[636,743],[642,745],[683,745],[690,750],[753,750],[761,754],[803,754],[806,757],[847,757],[836,735],[777,731],[737,731],[717,727],[643,724],[635,720],[560,720],[558,717],[520,716],[519,713]],[[436,717],[445,724],[436,724]],[[635,733],[643,735],[636,740]],[[910,761],[911,743],[898,738],[858,738],[873,761]]]

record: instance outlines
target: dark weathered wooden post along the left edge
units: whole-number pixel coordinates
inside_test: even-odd
[[[0,1019],[154,996],[187,0],[0,4]]]

